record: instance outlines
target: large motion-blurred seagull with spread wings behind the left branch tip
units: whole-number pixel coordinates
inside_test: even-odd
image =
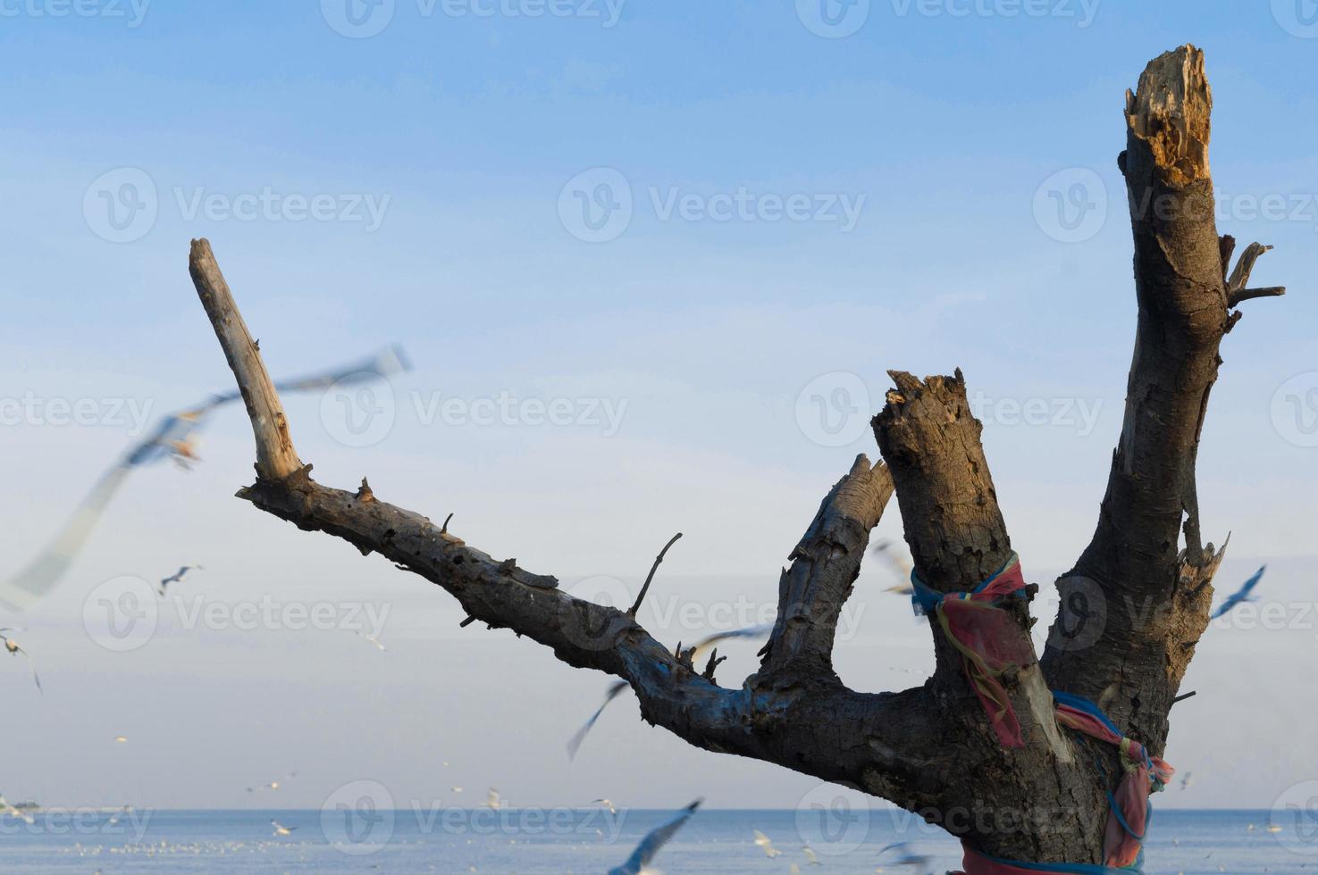
[[[318,374],[277,382],[279,391],[312,391],[333,385],[353,385],[373,380],[385,380],[395,373],[411,370],[406,356],[398,347],[391,347],[364,361],[344,368],[335,368]],[[109,470],[100,476],[91,492],[83,498],[55,539],[26,568],[9,580],[0,581],[0,602],[16,610],[25,610],[37,604],[72,564],[87,538],[91,536],[96,521],[119,488],[134,468],[173,459],[183,466],[196,460],[196,432],[207,416],[225,405],[241,401],[237,390],[211,395],[206,401],[186,410],[166,416],[154,431],[130,447]]]

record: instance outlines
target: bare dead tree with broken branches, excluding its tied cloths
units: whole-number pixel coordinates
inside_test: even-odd
[[[1203,55],[1193,46],[1151,62],[1127,92],[1119,165],[1139,324],[1126,418],[1094,539],[1058,581],[1062,610],[1043,659],[1029,642],[1028,604],[1012,609],[1012,634],[1031,655],[1003,677],[1021,747],[1004,747],[988,730],[961,655],[937,623],[937,667],[923,687],[858,693],[832,665],[838,614],[894,492],[916,571],[934,590],[970,590],[1011,555],[960,370],[925,380],[890,372],[895,389],[873,423],[884,461],[858,457],[824,498],[779,581],[778,622],[759,671],[739,688],[699,673],[633,613],[573,598],[551,576],[492,559],[447,527],[380,501],[365,480],[356,492],[315,482],[211,246],[196,240],[191,275],[256,435],[257,478],[239,497],[362,555],[381,553],[448,590],[469,618],[511,629],[569,665],[623,679],[646,721],[691,745],[859,788],[985,854],[1102,863],[1106,793],[1119,760],[1058,723],[1050,691],[1098,702],[1126,735],[1162,751],[1222,560],[1201,543],[1194,485],[1218,347],[1240,319],[1238,304],[1281,293],[1248,287],[1264,246],[1252,244],[1228,270],[1235,241],[1219,237],[1214,223],[1210,108]],[[1091,643],[1069,647],[1062,633],[1077,618],[1068,617],[1065,596],[1081,585],[1106,605],[1106,622]]]

